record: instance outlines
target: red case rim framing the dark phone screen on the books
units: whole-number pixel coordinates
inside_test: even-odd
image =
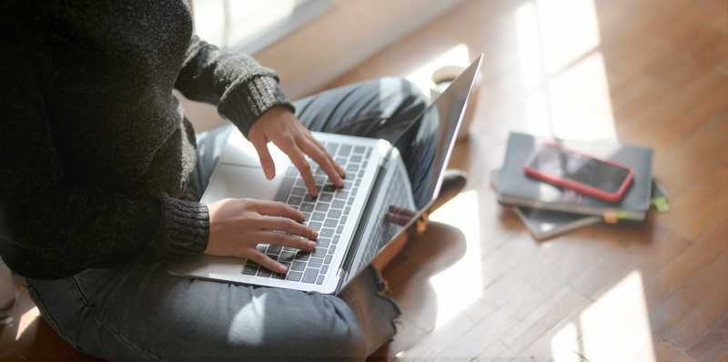
[[[624,166],[622,164],[618,164],[618,163],[610,161],[610,160],[591,156],[591,155],[586,154],[581,151],[577,151],[577,150],[574,150],[571,148],[566,148],[555,142],[548,142],[545,144],[559,147],[566,152],[571,152],[571,153],[578,154],[581,156],[589,157],[591,159],[602,161],[606,164],[609,164],[609,165],[612,165],[615,167],[624,168],[628,171],[627,177],[624,178],[624,182],[622,182],[622,185],[619,187],[619,189],[617,189],[616,192],[609,193],[604,190],[600,190],[599,188],[592,187],[589,185],[584,185],[584,184],[581,184],[576,181],[562,178],[560,176],[543,174],[543,173],[539,172],[538,170],[531,168],[529,166],[531,164],[531,161],[533,160],[533,157],[535,157],[538,154],[538,149],[536,149],[533,152],[533,154],[531,156],[529,156],[529,159],[526,161],[526,165],[523,166],[523,170],[525,171],[526,175],[541,179],[543,181],[546,181],[546,182],[556,185],[556,186],[563,186],[566,188],[571,188],[572,190],[578,191],[581,194],[592,196],[592,197],[598,198],[600,200],[608,201],[608,202],[617,202],[620,199],[622,199],[622,196],[624,196],[624,193],[627,191],[627,188],[630,186],[630,184],[632,184],[632,179],[634,178],[634,171],[632,171],[632,167],[630,167],[630,166]]]

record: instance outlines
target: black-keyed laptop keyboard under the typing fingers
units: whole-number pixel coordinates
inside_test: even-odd
[[[316,248],[307,252],[295,247],[258,244],[258,251],[287,266],[288,272],[274,273],[252,260],[247,260],[243,264],[243,275],[323,284],[372,151],[370,146],[342,145],[334,142],[323,143],[323,146],[339,166],[346,170],[344,187],[337,188],[331,184],[324,171],[307,157],[319,189],[319,196],[308,195],[306,184],[298,174],[298,169],[291,165],[286,170],[275,198],[276,201],[297,208],[306,216],[306,225],[319,233]]]

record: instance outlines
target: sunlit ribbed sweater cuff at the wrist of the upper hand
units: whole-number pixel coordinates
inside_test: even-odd
[[[248,137],[250,127],[273,106],[286,106],[291,112],[296,109],[283,94],[275,77],[260,75],[232,85],[220,98],[217,112]]]

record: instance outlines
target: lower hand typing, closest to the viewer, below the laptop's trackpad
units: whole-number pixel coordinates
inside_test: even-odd
[[[255,261],[277,273],[286,266],[256,249],[258,243],[311,250],[316,246],[315,231],[301,224],[303,214],[275,201],[226,198],[207,205],[210,232],[205,254],[238,256]],[[300,236],[300,237],[299,237]]]

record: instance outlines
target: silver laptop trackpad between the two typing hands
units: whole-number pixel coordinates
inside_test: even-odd
[[[257,198],[272,200],[283,176],[268,180],[260,166],[220,164],[210,179],[202,202],[213,203],[223,198]]]

